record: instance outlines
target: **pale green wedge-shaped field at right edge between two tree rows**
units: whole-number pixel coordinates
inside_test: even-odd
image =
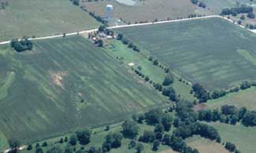
[[[224,104],[234,105],[236,107],[247,107],[249,110],[256,110],[256,89],[241,90],[239,93],[228,93],[228,95],[218,98],[217,100],[209,100],[206,106],[210,109],[221,108]]]

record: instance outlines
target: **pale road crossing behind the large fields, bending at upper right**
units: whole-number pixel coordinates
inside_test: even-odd
[[[143,26],[143,25],[150,25],[150,24],[165,24],[165,23],[172,23],[172,22],[180,22],[180,21],[184,21],[184,20],[198,20],[198,19],[206,19],[206,18],[212,18],[212,17],[219,17],[221,19],[224,20],[228,20],[229,22],[234,23],[232,20],[229,20],[226,17],[223,16],[217,16],[217,15],[213,15],[213,16],[201,16],[201,17],[194,17],[194,18],[184,18],[184,19],[177,19],[177,20],[164,20],[164,21],[158,21],[158,22],[149,22],[149,23],[144,23],[144,24],[128,24],[128,25],[121,25],[121,26],[113,26],[113,27],[108,27],[109,29],[117,29],[117,28],[121,28],[121,27],[135,27],[135,26]],[[237,24],[237,23],[234,23]],[[239,27],[243,27],[242,25],[237,24]],[[246,27],[243,27],[246,28]],[[90,33],[93,31],[97,31],[98,29],[91,29],[91,30],[87,30],[87,31],[80,31],[79,34],[83,34],[83,33]],[[256,33],[256,30],[250,30],[251,32]],[[73,33],[67,33],[68,35],[77,35],[77,32],[73,32]],[[47,38],[60,38],[63,37],[63,35],[50,35],[50,36],[46,36],[46,37],[38,37],[38,38],[29,38],[29,40],[42,40],[42,39],[47,39]],[[6,42],[0,42],[0,45],[4,45],[4,44],[9,44],[10,41],[6,41]]]

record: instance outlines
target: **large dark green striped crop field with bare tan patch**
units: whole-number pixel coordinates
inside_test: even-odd
[[[0,131],[24,143],[169,104],[80,36],[38,41],[23,53],[1,46],[0,59]]]

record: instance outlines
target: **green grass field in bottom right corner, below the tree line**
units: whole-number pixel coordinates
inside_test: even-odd
[[[213,122],[211,126],[218,130],[222,142],[232,142],[241,152],[256,152],[255,137],[256,129],[243,125],[228,125],[224,123]]]

